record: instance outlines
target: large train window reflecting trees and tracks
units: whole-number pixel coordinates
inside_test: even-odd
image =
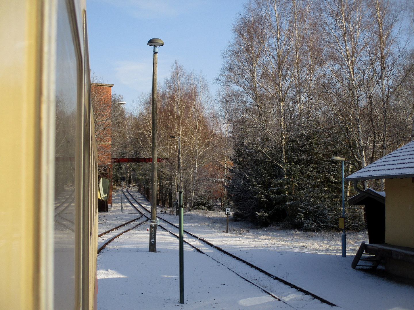
[[[56,50],[55,128],[55,309],[73,310],[77,305],[76,253],[79,227],[75,175],[77,115],[79,113],[79,60],[70,10],[58,0]]]

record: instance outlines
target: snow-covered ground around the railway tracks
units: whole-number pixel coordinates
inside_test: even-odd
[[[149,207],[149,202],[135,188],[130,191]],[[100,233],[138,216],[129,214],[136,211],[125,197],[123,199],[124,213],[120,213],[118,191],[113,196],[111,212],[99,214]],[[178,224],[178,217],[174,215],[159,216]],[[243,222],[233,222],[230,217],[229,234],[226,234],[226,217],[224,212],[218,211],[185,212],[184,223],[185,230],[342,308],[414,309],[413,281],[390,277],[381,269],[351,269],[356,250],[368,239],[365,232],[347,233],[347,258],[342,258],[337,232],[312,233],[277,227],[255,229]],[[143,224],[115,239],[98,255],[99,309],[150,310],[178,305],[178,240],[158,229],[159,253],[149,253],[147,227],[148,224]],[[290,308],[273,299],[223,265],[185,245],[185,304],[181,308]],[[294,304],[298,305],[304,306]],[[319,308],[324,306],[320,304]],[[310,308],[318,309],[318,305]]]

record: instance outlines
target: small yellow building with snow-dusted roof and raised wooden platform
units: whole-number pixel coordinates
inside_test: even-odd
[[[414,278],[414,141],[346,178],[368,197],[370,192],[359,189],[358,181],[372,179],[385,179],[385,243],[362,243],[352,267],[364,265],[361,257],[369,260],[362,255],[365,250],[375,255],[372,267],[385,262],[388,272]]]

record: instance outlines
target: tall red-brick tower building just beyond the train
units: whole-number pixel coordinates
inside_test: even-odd
[[[100,172],[109,172],[112,183],[111,164],[111,102],[113,84],[91,83],[91,102],[94,110],[94,125],[96,146],[98,149],[98,165]],[[108,169],[109,168],[109,169]],[[100,174],[108,176],[107,174]],[[112,186],[109,190],[108,201],[99,200],[99,210],[111,209]],[[103,211],[102,210],[102,211]]]

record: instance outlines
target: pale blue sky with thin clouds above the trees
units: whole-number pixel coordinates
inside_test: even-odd
[[[151,38],[161,38],[158,79],[178,60],[202,72],[214,94],[221,50],[231,39],[231,24],[247,0],[87,0],[89,57],[92,71],[115,84],[128,107],[151,91]]]

